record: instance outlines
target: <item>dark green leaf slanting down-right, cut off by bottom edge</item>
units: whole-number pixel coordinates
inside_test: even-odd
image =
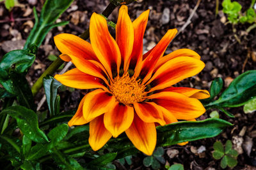
[[[51,150],[52,158],[55,160],[55,162],[58,164],[58,166],[61,167],[61,169],[70,169],[70,170],[79,170],[83,169],[81,165],[72,157],[65,155],[61,153],[59,150],[56,150],[55,148]]]

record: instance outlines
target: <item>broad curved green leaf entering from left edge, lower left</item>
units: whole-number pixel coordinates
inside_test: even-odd
[[[20,131],[36,143],[48,142],[47,136],[38,128],[38,118],[33,110],[24,106],[11,106],[3,110],[0,115],[9,114],[15,118]]]

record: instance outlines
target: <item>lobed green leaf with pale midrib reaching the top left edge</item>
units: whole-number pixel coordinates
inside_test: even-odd
[[[53,27],[68,24],[68,22],[61,22],[58,24],[54,24],[54,22],[61,15],[61,13],[67,10],[72,1],[73,0],[46,0],[39,19],[35,8],[33,8],[35,25],[28,36],[24,49],[33,43],[35,43],[36,46],[40,46],[47,32],[49,32]]]

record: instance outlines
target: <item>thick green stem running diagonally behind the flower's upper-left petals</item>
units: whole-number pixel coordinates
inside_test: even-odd
[[[108,17],[112,13],[112,11],[115,10],[115,8],[116,8],[115,4],[109,3],[107,8],[102,12],[102,15],[104,15],[105,17]],[[86,40],[89,38],[89,36],[90,36],[90,32],[89,32],[89,29],[87,29],[79,37]],[[55,71],[61,66],[61,64],[63,64],[63,62],[64,61],[61,60],[60,58],[54,60],[54,62],[52,62],[52,64],[44,71],[44,73],[40,76],[40,78],[38,78],[38,80],[36,80],[35,84],[31,88],[33,96],[35,96],[38,93],[38,91],[41,89],[41,87],[43,86],[44,77],[49,74],[55,73]]]

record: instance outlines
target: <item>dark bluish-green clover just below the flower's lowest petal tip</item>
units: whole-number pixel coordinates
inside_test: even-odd
[[[152,169],[159,169],[161,164],[165,164],[165,160],[163,158],[164,149],[162,147],[157,148],[153,155],[150,157],[145,157],[143,160],[143,164],[146,167],[152,167]],[[161,164],[160,164],[161,163]]]

